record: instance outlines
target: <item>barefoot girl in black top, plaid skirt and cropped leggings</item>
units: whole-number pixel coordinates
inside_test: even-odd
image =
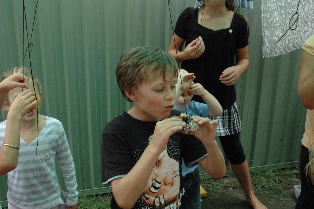
[[[234,12],[234,0],[197,1],[195,8],[185,9],[177,20],[168,52],[175,59],[178,56],[181,68],[194,72],[195,82],[203,85],[223,107],[223,113],[215,118],[219,121],[216,136],[244,190],[246,201],[253,208],[266,208],[252,189],[239,138],[241,121],[234,84],[249,66],[248,36],[247,20]],[[185,49],[181,52],[184,42]],[[199,96],[194,96],[193,100],[202,102]]]

